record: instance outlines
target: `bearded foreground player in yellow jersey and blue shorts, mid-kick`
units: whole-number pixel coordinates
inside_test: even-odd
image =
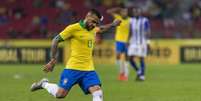
[[[49,83],[47,79],[35,82],[31,91],[46,89],[56,98],[64,98],[70,89],[78,84],[85,94],[92,94],[93,101],[103,101],[101,82],[94,70],[92,50],[96,32],[103,32],[120,24],[119,20],[98,27],[102,20],[101,14],[90,10],[84,20],[67,26],[53,40],[51,45],[51,60],[44,66],[44,72],[52,72],[56,64],[58,44],[64,40],[70,41],[71,55],[66,68],[61,73],[59,84]]]

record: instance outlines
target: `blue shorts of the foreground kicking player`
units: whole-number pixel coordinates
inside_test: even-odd
[[[89,87],[100,85],[100,79],[95,71],[79,71],[72,69],[64,69],[61,73],[59,87],[70,91],[70,89],[78,84],[85,94],[89,94]]]

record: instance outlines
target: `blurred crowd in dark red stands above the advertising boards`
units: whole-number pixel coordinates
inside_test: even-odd
[[[113,19],[106,10],[119,5],[142,8],[152,38],[201,38],[201,0],[1,0],[0,38],[51,38],[90,8],[108,23]]]

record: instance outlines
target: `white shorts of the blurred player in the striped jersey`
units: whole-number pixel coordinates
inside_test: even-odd
[[[138,56],[146,57],[147,56],[147,44],[130,44],[128,47],[128,56]]]

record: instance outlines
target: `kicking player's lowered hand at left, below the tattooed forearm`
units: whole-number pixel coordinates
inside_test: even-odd
[[[52,72],[54,69],[54,66],[56,64],[56,59],[51,59],[44,67],[43,71],[45,73]]]

